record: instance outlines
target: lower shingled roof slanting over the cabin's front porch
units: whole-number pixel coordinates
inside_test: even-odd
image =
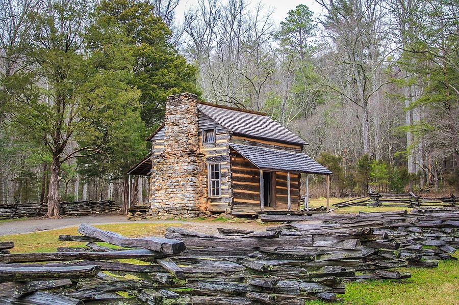
[[[307,154],[251,145],[229,144],[230,147],[260,169],[318,175],[333,174]]]

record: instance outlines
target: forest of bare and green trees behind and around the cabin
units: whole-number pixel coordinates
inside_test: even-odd
[[[459,190],[456,1],[317,0],[280,24],[263,2],[179,18],[179,1],[0,0],[0,204],[126,203],[124,173],[181,92],[299,134],[334,196]]]

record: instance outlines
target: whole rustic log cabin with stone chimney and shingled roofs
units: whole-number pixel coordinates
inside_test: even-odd
[[[149,208],[157,217],[300,209],[300,175],[332,173],[304,154],[305,143],[268,115],[167,98],[151,152],[127,174],[149,176]]]

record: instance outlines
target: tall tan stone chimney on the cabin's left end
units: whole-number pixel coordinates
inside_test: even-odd
[[[196,95],[168,96],[164,125],[164,151],[153,159],[151,212],[162,218],[199,216],[202,169]]]

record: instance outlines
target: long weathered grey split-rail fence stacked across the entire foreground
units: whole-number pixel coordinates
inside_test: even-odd
[[[283,220],[304,216],[289,217]],[[0,304],[299,305],[339,299],[344,281],[409,278],[397,268],[436,267],[459,247],[459,211],[452,208],[309,219],[320,224],[295,221],[264,232],[218,234],[168,228],[166,238],[127,238],[82,225],[82,236],[59,239],[86,247],[33,255],[7,254],[13,245],[2,243]],[[97,244],[102,241],[123,248]],[[143,262],[113,261],[132,258]],[[36,263],[41,261],[47,263]]]

